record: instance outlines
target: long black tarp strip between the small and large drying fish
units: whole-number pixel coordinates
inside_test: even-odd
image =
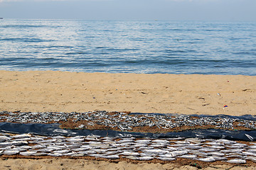
[[[99,135],[100,137],[149,137],[149,138],[203,138],[203,139],[226,139],[255,141],[256,130],[220,130],[220,129],[198,129],[185,130],[182,132],[167,133],[144,133],[144,132],[119,132],[114,130],[74,130],[60,129],[59,124],[41,124],[41,123],[0,123],[1,132],[12,133],[31,133],[34,135],[45,136],[75,136],[75,135]]]

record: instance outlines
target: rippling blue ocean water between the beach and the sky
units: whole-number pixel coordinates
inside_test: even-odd
[[[256,23],[0,20],[0,70],[256,75]]]

